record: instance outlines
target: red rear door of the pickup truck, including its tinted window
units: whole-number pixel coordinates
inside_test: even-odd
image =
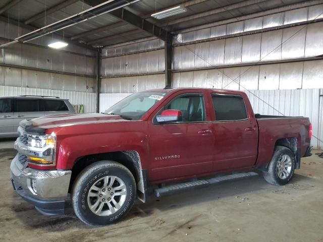
[[[254,165],[258,149],[256,120],[250,118],[240,95],[211,94],[215,122],[214,170]]]

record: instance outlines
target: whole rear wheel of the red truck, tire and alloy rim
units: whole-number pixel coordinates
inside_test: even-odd
[[[267,183],[281,186],[289,182],[294,175],[295,156],[287,147],[276,146],[273,158],[268,165],[263,177]]]

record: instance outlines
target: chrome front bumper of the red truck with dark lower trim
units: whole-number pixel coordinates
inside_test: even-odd
[[[18,155],[10,165],[11,179],[17,193],[43,214],[64,213],[72,171],[25,168]]]

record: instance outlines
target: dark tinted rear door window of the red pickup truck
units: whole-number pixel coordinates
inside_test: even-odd
[[[244,100],[239,95],[212,94],[217,121],[241,120],[248,117]]]

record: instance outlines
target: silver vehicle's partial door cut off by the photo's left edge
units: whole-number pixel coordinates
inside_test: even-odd
[[[0,99],[0,137],[9,137],[17,131],[13,126],[14,113],[12,111],[12,98]]]

